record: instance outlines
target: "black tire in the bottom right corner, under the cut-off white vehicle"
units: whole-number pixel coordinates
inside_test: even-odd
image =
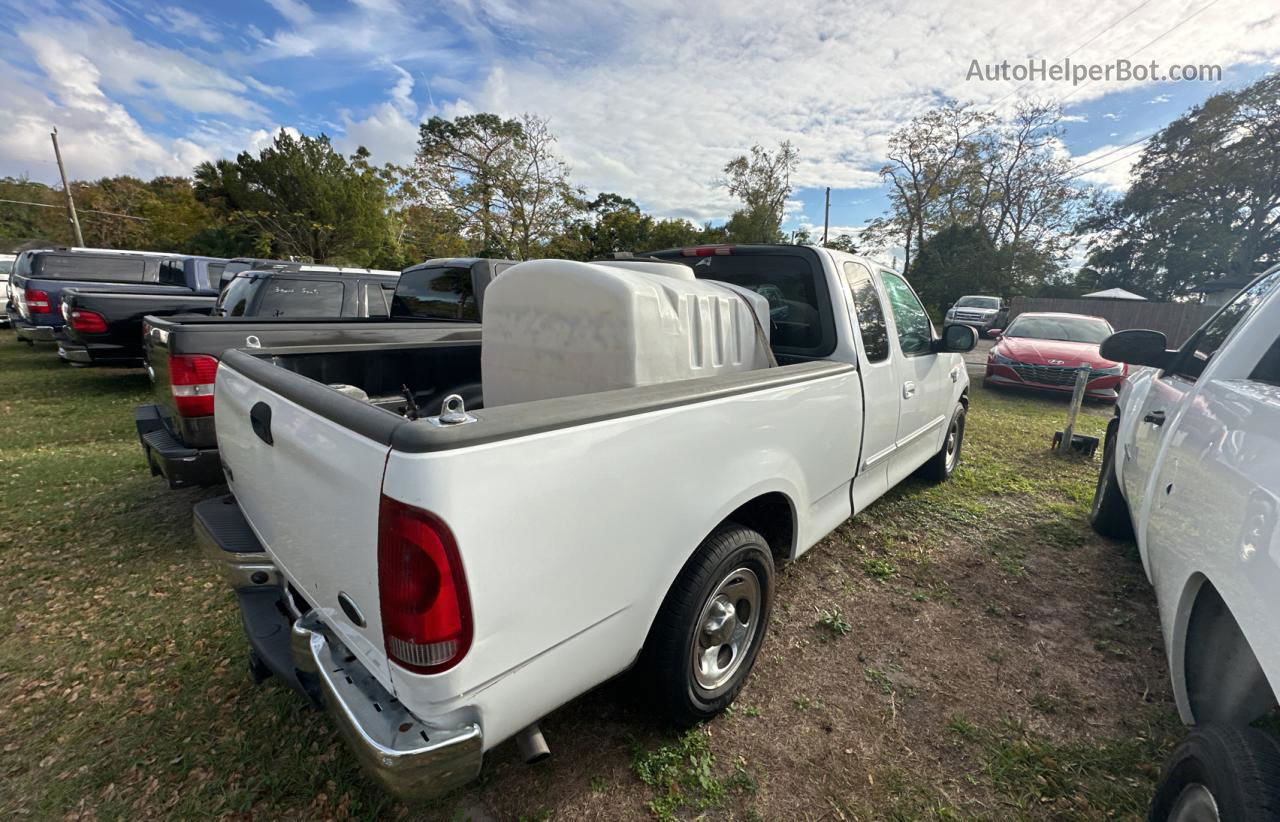
[[[1204,725],[1174,750],[1160,775],[1151,822],[1210,818],[1188,813],[1196,800],[1231,822],[1280,819],[1280,740],[1252,727]]]

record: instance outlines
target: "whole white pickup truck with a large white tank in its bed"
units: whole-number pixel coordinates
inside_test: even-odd
[[[543,716],[637,663],[673,720],[717,714],[763,640],[774,562],[909,474],[956,466],[957,352],[977,338],[940,337],[901,275],[805,246],[648,259],[767,298],[777,365],[479,407],[476,342],[221,361],[234,501],[195,519],[252,668],[323,702],[402,798],[470,781],[512,736],[545,754]],[[364,399],[402,385],[426,387],[424,414],[458,387],[471,399],[416,420]]]

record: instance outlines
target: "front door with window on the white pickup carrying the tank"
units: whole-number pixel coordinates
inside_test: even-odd
[[[933,323],[899,274],[881,271],[893,321],[893,356],[901,411],[888,481],[897,483],[942,447],[951,402],[951,357],[933,351]]]

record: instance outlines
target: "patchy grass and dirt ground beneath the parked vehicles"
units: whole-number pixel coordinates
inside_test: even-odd
[[[142,462],[142,371],[0,343],[0,816],[1143,818],[1179,735],[1132,545],[1085,522],[1097,461],[1060,399],[974,388],[960,470],[908,481],[781,574],[723,717],[677,734],[627,677],[424,807],[334,726],[255,686],[191,504]],[[1108,408],[1079,429],[1101,435]]]

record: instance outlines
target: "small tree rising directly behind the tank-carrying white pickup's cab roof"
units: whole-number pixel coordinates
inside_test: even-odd
[[[722,184],[742,201],[742,207],[730,216],[724,227],[735,242],[780,242],[782,216],[791,195],[791,174],[800,152],[790,141],[777,151],[755,145],[749,154],[733,157],[724,165]]]

